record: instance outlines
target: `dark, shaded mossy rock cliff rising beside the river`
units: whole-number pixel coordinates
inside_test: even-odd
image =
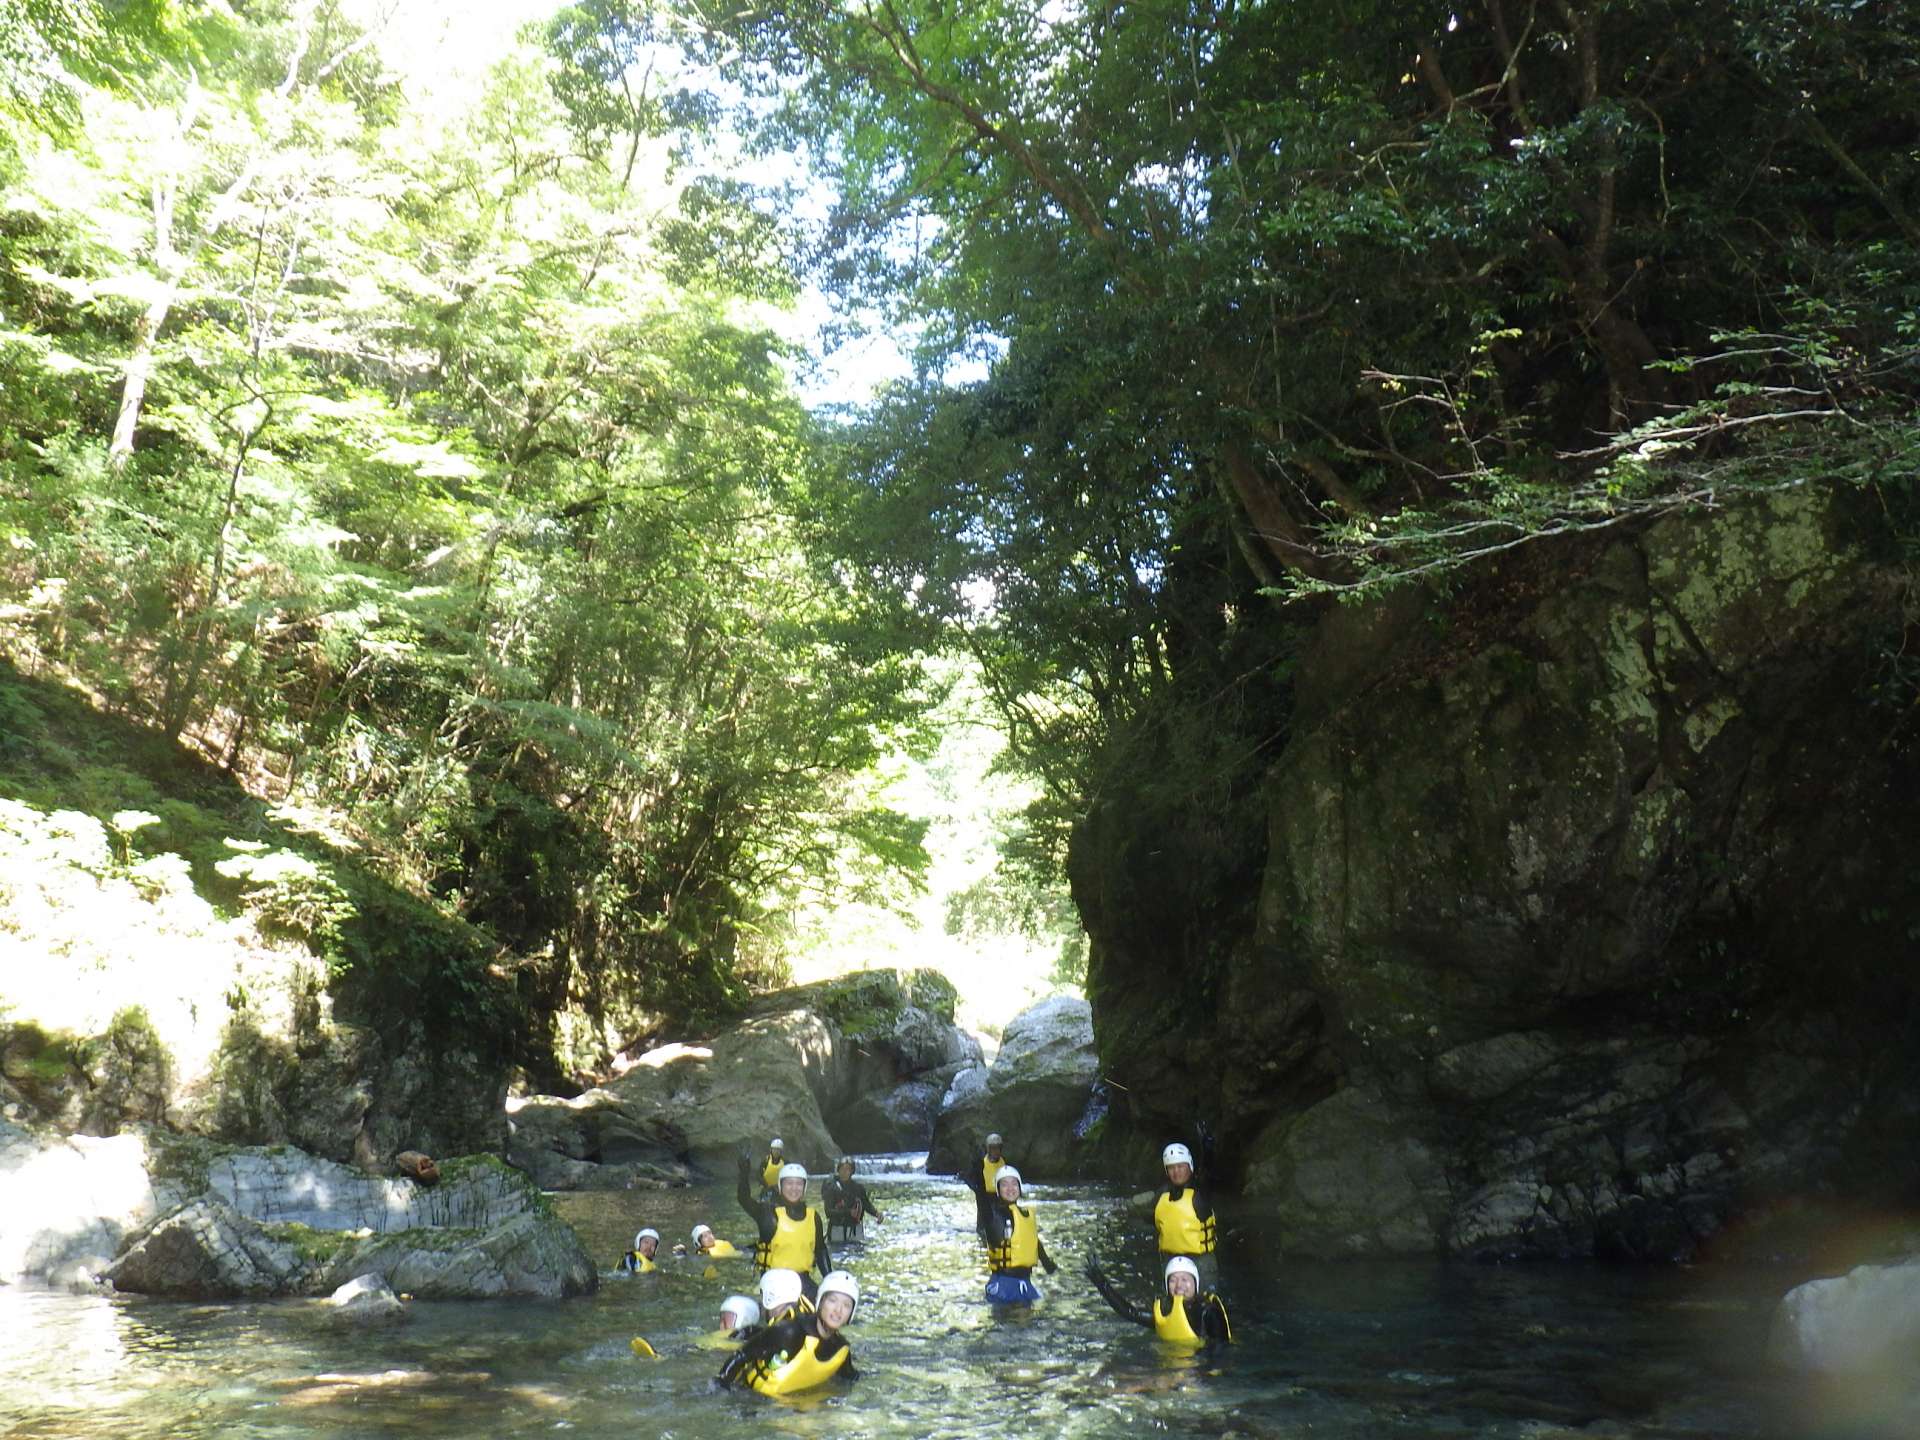
[[[1200,941],[1137,924],[1177,881],[1121,810],[1083,826],[1119,1154],[1150,1173],[1212,1114],[1334,1254],[1682,1256],[1799,1192],[1910,1196],[1920,776],[1874,701],[1908,603],[1878,513],[1805,486],[1544,559],[1323,620],[1258,879]]]

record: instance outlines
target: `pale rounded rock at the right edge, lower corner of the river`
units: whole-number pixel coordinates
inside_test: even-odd
[[[1920,1258],[1857,1265],[1780,1300],[1766,1342],[1778,1365],[1822,1375],[1899,1379],[1920,1396]]]

